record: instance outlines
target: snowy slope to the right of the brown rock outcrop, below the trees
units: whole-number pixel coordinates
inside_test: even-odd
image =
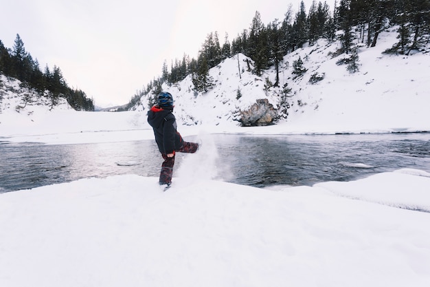
[[[376,47],[359,48],[360,70],[355,74],[350,74],[345,65],[336,65],[342,56],[326,59],[328,52],[335,52],[336,45],[319,41],[317,47],[297,52],[302,59],[308,55],[304,66],[309,70],[301,82],[292,85],[299,92],[288,122],[337,132],[428,130],[430,55],[382,54],[396,43],[395,36],[395,32],[384,32]],[[289,59],[296,57],[291,55]],[[314,72],[325,73],[324,80],[304,85]],[[297,105],[299,100],[304,103],[301,107]]]

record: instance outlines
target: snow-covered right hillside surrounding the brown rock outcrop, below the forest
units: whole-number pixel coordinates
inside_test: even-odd
[[[248,109],[257,99],[267,98],[279,108],[282,89],[287,87],[291,88],[286,98],[288,116],[285,119],[286,115],[280,114],[278,124],[285,124],[292,131],[429,130],[427,75],[430,55],[421,52],[411,56],[383,54],[398,41],[396,36],[396,28],[390,28],[381,33],[376,47],[358,45],[359,71],[353,74],[346,65],[337,65],[345,54],[332,56],[340,43],[320,39],[316,45],[284,56],[280,87],[265,89],[267,83],[275,82],[275,70],[256,76],[247,70],[247,57],[238,54],[210,70],[215,85],[205,94],[193,91],[191,75],[172,86],[165,83],[163,89],[174,96],[174,113],[183,125],[238,125],[235,122],[238,111]],[[299,57],[307,72],[295,77],[293,62]],[[251,59],[249,63],[252,65]],[[312,76],[324,78],[310,83]],[[238,89],[242,94],[239,99]],[[132,110],[148,109],[150,94],[143,96]]]

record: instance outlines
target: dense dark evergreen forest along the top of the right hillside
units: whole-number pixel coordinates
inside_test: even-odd
[[[208,72],[223,60],[238,53],[253,60],[252,72],[261,75],[269,67],[275,67],[277,76],[273,86],[279,85],[279,67],[283,57],[303,47],[313,45],[318,39],[340,41],[341,48],[333,56],[347,54],[352,70],[358,61],[357,46],[374,47],[378,35],[389,27],[398,27],[398,42],[386,53],[410,54],[425,50],[430,43],[430,1],[429,0],[335,0],[331,10],[326,2],[313,1],[308,12],[302,1],[299,11],[294,13],[290,4],[284,19],[275,19],[264,25],[260,12],[256,11],[249,29],[244,29],[231,43],[225,35],[221,45],[218,32],[207,35],[197,59],[184,54],[170,64],[165,61],[161,76],[150,81],[138,91],[123,109],[133,107],[142,96],[152,93],[150,98],[161,92],[161,85],[172,85],[192,75],[195,92],[207,92],[212,87]],[[297,67],[299,69],[299,67]]]

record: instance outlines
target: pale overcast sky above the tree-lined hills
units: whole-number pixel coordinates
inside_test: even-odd
[[[170,69],[183,54],[196,58],[210,32],[231,42],[256,11],[267,25],[284,19],[289,3],[297,11],[300,0],[5,0],[0,40],[12,49],[19,34],[42,71],[60,67],[69,87],[105,107],[128,103],[165,60]],[[312,0],[304,3],[308,12]]]

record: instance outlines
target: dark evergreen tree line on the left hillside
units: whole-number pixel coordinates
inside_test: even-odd
[[[54,66],[50,70],[46,65],[44,72],[41,71],[39,63],[25,50],[23,40],[16,34],[14,47],[5,47],[0,40],[0,72],[5,76],[17,78],[24,85],[36,91],[42,96],[45,91],[51,99],[52,105],[58,103],[59,98],[66,98],[73,109],[93,111],[93,100],[80,89],[68,87],[59,67]]]

